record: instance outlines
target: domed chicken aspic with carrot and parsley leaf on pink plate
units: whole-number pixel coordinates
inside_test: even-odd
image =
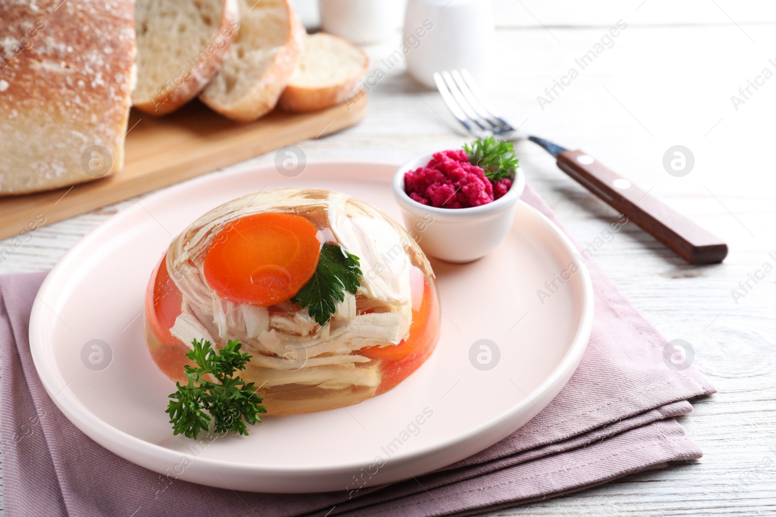
[[[151,276],[145,335],[184,381],[192,340],[243,343],[269,414],[352,405],[434,350],[435,277],[417,243],[368,203],[286,188],[235,199],[172,241]]]

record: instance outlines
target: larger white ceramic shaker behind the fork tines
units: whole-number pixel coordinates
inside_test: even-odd
[[[496,43],[490,0],[409,0],[404,40],[429,22],[421,45],[407,53],[412,77],[436,88],[434,72],[466,68],[477,81],[487,81]]]

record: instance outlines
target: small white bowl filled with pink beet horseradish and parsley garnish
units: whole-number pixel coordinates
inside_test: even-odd
[[[514,144],[490,137],[408,161],[393,175],[391,188],[404,227],[424,252],[463,263],[504,241],[525,175]]]

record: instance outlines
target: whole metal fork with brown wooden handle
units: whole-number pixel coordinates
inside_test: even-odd
[[[649,191],[633,184],[581,150],[567,150],[537,136],[518,133],[492,108],[480,84],[465,69],[436,72],[442,100],[466,130],[479,138],[494,136],[515,142],[531,140],[556,158],[559,169],[613,207],[689,264],[722,262],[727,244],[681,213],[664,205]]]

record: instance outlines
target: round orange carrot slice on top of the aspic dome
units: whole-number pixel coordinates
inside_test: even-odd
[[[296,295],[313,276],[319,256],[317,229],[301,215],[247,215],[213,240],[205,279],[222,298],[268,307]]]

